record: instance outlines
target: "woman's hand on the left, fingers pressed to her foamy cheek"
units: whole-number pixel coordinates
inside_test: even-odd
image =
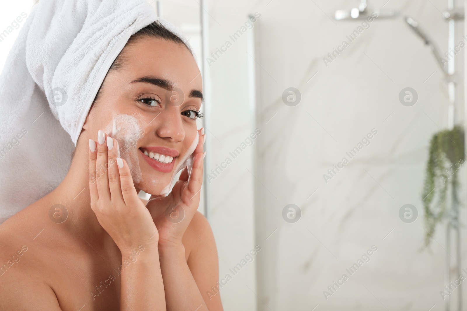
[[[118,157],[118,150],[117,140],[101,130],[98,143],[89,139],[91,208],[122,253],[140,245],[157,249],[156,225],[138,198],[128,164]]]

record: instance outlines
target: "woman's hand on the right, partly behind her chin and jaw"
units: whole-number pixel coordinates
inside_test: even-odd
[[[159,229],[159,246],[180,247],[182,237],[199,205],[203,182],[204,135],[198,130],[198,145],[193,152],[193,166],[188,176],[185,167],[169,195],[151,195],[146,207]]]

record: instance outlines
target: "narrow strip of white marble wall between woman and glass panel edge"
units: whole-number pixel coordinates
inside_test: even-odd
[[[215,52],[226,41],[232,46],[223,48],[222,55],[212,60],[209,69],[212,77],[212,115],[208,137],[211,142],[210,163],[207,173],[210,183],[210,214],[217,248],[219,250],[219,275],[232,276],[221,289],[224,309],[255,310],[256,264],[263,252],[255,252],[254,219],[254,152],[262,132],[255,133],[248,76],[248,33],[233,41],[233,35],[247,21],[247,16],[216,14],[210,21],[210,47]],[[254,81],[251,81],[254,84]],[[241,149],[238,149],[238,148]],[[240,151],[241,150],[241,151]],[[231,162],[230,162],[231,161]],[[224,163],[224,164],[223,164]],[[227,164],[228,163],[228,164]],[[217,166],[223,171],[212,172]],[[250,253],[251,252],[251,253]],[[255,256],[248,256],[255,254]],[[242,259],[246,259],[242,262]],[[233,275],[233,267],[242,264],[241,270]],[[236,271],[233,271],[236,272]],[[226,281],[224,281],[225,283]]]

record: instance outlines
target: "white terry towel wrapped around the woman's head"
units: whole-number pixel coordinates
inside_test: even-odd
[[[64,179],[107,70],[129,37],[153,21],[189,46],[145,0],[35,5],[0,76],[0,223]]]

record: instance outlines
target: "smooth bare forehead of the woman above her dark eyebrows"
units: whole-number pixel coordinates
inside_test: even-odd
[[[182,90],[202,90],[198,65],[183,44],[142,37],[128,44],[122,54],[128,80],[156,76],[173,82]]]

